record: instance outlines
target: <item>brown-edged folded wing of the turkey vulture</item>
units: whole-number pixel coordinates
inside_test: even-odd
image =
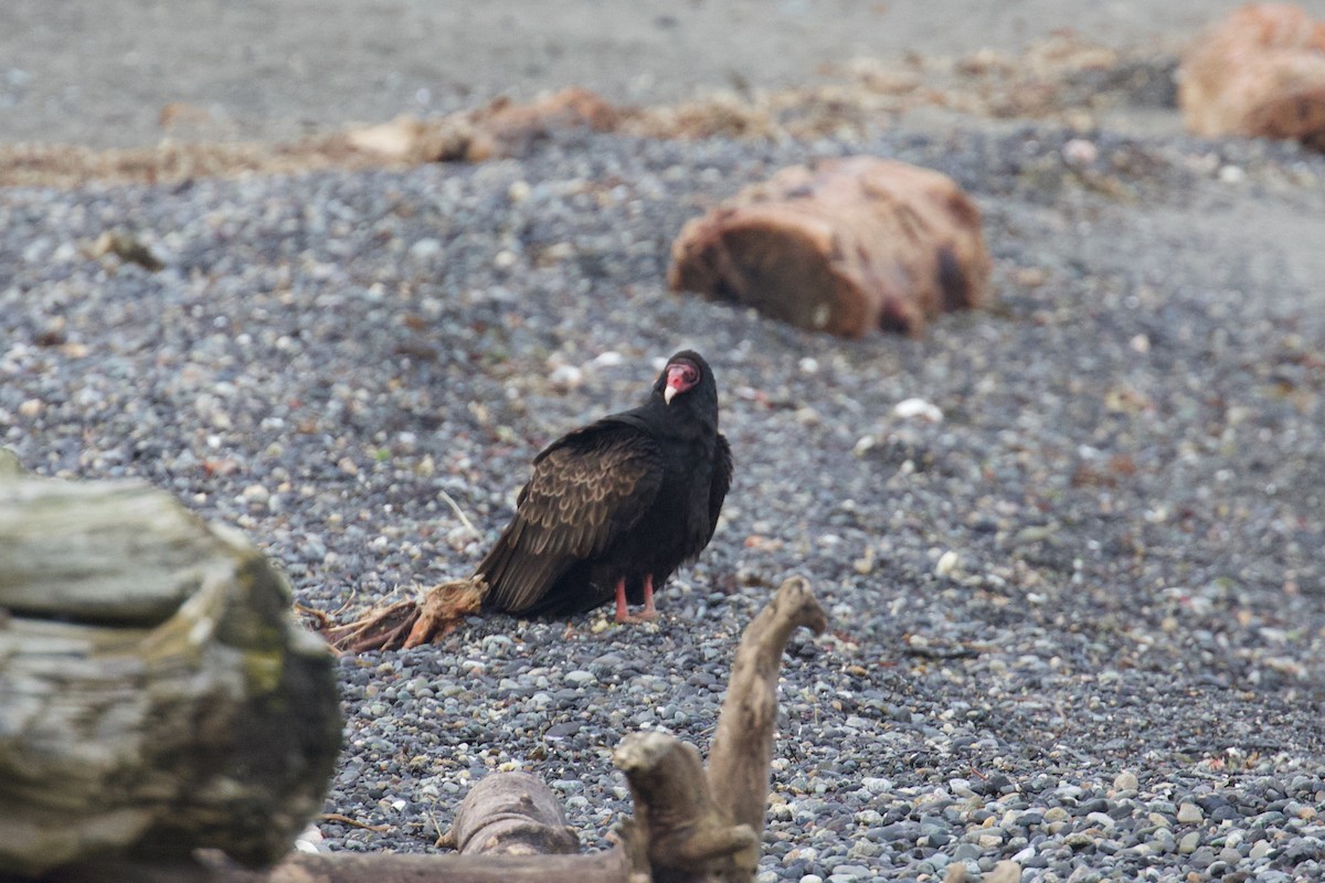
[[[554,442],[534,459],[515,518],[478,565],[489,606],[537,604],[578,560],[602,555],[635,527],[662,485],[657,443],[603,420]]]

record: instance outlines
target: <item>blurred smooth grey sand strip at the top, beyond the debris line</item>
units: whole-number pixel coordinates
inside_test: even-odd
[[[578,85],[674,102],[856,58],[1015,54],[1053,34],[1178,52],[1227,0],[7,0],[0,143],[290,142]],[[1325,1],[1301,4],[1325,17]]]

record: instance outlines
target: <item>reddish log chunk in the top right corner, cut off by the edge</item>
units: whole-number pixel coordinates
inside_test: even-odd
[[[1187,50],[1178,103],[1198,135],[1296,138],[1325,150],[1325,21],[1291,4],[1238,9]]]

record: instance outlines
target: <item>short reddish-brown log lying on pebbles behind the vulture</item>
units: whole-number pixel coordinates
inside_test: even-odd
[[[784,168],[686,222],[668,283],[855,338],[977,307],[988,274],[979,209],[950,177],[852,156]]]

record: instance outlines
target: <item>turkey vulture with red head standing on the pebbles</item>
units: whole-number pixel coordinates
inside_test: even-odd
[[[616,598],[657,616],[653,589],[694,559],[731,485],[718,385],[700,353],[672,356],[639,408],[576,429],[534,458],[515,518],[478,565],[485,606],[583,613]]]

